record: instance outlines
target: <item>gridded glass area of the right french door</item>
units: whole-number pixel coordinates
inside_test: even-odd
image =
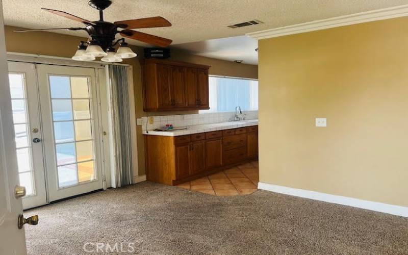
[[[96,179],[89,78],[49,75],[58,187]]]

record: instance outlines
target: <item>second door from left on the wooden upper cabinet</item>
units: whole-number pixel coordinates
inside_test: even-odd
[[[184,68],[180,66],[171,67],[171,104],[174,107],[186,106]]]

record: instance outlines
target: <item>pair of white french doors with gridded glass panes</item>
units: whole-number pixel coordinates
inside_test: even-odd
[[[9,62],[23,208],[103,188],[94,68]]]

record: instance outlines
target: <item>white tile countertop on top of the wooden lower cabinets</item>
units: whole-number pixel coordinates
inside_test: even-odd
[[[143,131],[143,135],[151,136],[184,136],[190,134],[211,132],[217,130],[225,129],[236,129],[243,126],[256,126],[258,125],[258,119],[247,119],[240,121],[228,121],[221,123],[212,123],[212,124],[202,124],[202,125],[193,125],[188,126],[186,130],[174,130],[174,131],[152,131],[148,132]]]

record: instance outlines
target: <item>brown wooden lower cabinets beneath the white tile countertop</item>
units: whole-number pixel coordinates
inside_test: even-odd
[[[146,179],[176,185],[258,157],[258,127],[186,136],[145,135]]]

